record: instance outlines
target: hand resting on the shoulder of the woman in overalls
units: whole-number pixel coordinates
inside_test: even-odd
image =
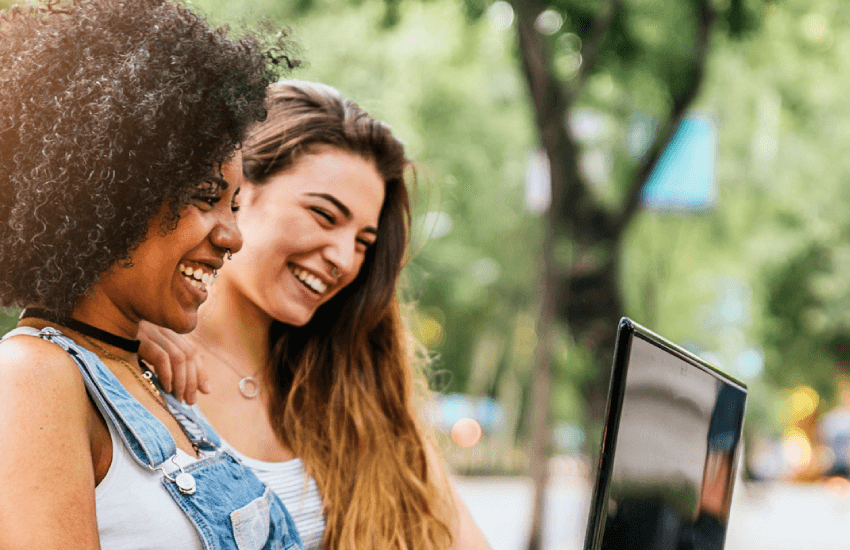
[[[197,401],[198,391],[209,393],[207,373],[187,336],[143,321],[139,340],[139,357],[151,366],[165,391],[190,405]]]

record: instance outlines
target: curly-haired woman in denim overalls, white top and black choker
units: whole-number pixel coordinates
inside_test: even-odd
[[[0,305],[26,308],[0,344],[0,548],[300,546],[135,340],[143,320],[191,330],[242,246],[240,146],[269,67],[165,0],[0,16]]]

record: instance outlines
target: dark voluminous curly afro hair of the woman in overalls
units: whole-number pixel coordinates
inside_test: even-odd
[[[218,185],[289,62],[259,43],[165,0],[0,16],[0,305],[70,315],[163,204],[167,231]]]

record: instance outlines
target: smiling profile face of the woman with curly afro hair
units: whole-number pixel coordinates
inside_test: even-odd
[[[160,208],[144,241],[130,254],[133,265],[112,266],[73,316],[131,336],[141,320],[180,333],[192,330],[226,249],[242,247],[234,215],[241,183],[242,154],[237,151],[222,165],[219,189],[200,187],[172,231],[163,232],[161,225],[168,205]]]

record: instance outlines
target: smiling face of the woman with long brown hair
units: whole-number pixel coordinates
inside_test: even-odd
[[[241,202],[245,246],[217,284],[301,326],[360,272],[376,239],[384,181],[372,161],[323,149],[260,186],[248,183]]]

